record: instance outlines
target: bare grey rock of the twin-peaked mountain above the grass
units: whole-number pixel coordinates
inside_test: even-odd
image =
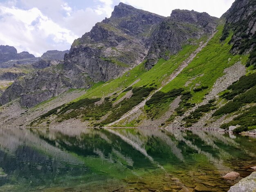
[[[172,25],[174,27],[170,27]],[[164,18],[119,3],[110,18],[97,23],[90,32],[74,40],[69,54],[65,54],[62,71],[57,72],[61,78],[49,79],[48,82],[38,85],[36,82],[43,81],[41,77],[45,76],[45,71],[37,72],[30,77],[34,78],[35,83],[26,85],[29,82],[27,80],[15,82],[4,92],[0,103],[5,104],[21,95],[21,98],[25,97],[28,100],[26,105],[24,103],[22,105],[33,107],[61,93],[56,90],[56,87],[63,85],[62,81],[56,82],[58,79],[65,78],[70,82],[63,85],[61,90],[65,92],[70,88],[90,88],[100,81],[106,82],[118,78],[143,60],[146,60],[146,69],[150,69],[152,62],[149,66],[148,61],[151,61],[152,57],[155,60],[162,57],[167,59],[181,50],[183,45],[194,43],[194,39],[210,35],[216,25],[217,18],[207,13],[175,10],[170,17]],[[166,38],[166,34],[172,34],[173,37]],[[159,49],[157,46],[161,44],[164,48]],[[55,69],[53,71],[56,73]],[[58,86],[51,87],[52,81]],[[29,87],[29,91],[27,88],[17,89],[17,86]],[[40,87],[45,86],[50,87],[48,97],[41,97],[40,94],[45,93],[40,91]],[[16,93],[16,90],[19,91]]]

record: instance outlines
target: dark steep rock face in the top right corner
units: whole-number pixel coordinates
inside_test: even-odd
[[[223,14],[226,19],[225,28],[221,40],[225,40],[229,35],[229,30],[234,34],[230,40],[233,44],[231,53],[248,54],[256,51],[256,1],[236,0],[230,9]],[[255,65],[255,54],[250,55],[248,65]]]

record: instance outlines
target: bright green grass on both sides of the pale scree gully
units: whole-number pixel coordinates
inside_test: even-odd
[[[236,55],[233,56],[229,53],[231,45],[228,44],[231,35],[224,41],[220,42],[220,37],[222,36],[223,26],[218,27],[218,32],[209,41],[208,45],[198,53],[198,55],[193,59],[193,61],[187,66],[174,80],[165,85],[161,90],[164,93],[168,93],[173,89],[183,88],[189,91],[192,97],[189,99],[191,103],[200,103],[205,94],[211,91],[213,84],[216,80],[223,76],[224,69],[234,65],[237,61],[245,64],[248,56]],[[87,93],[80,98],[76,98],[73,102],[84,99],[84,98],[102,98],[110,96],[110,98],[115,98],[116,102],[122,96],[126,94],[123,92],[124,89],[129,87],[136,80],[139,80],[133,87],[155,87],[161,86],[162,81],[167,78],[177,67],[186,59],[198,45],[186,45],[177,55],[171,56],[171,58],[166,61],[160,59],[159,62],[149,71],[144,69],[144,63],[141,63],[134,69],[126,72],[120,78],[111,80],[104,84],[99,83],[94,86],[93,89],[89,89]],[[193,78],[193,79],[192,79]],[[192,80],[191,80],[192,79]],[[185,87],[186,82],[191,81],[189,86]],[[194,92],[193,88],[196,84],[201,86],[206,86],[208,88],[202,91]],[[115,93],[115,94],[114,94]],[[129,100],[126,100],[129,103]],[[159,110],[158,117],[164,113],[170,104],[171,100],[168,102],[161,103],[161,107],[155,108],[150,107],[150,110]],[[146,107],[148,110],[148,108]],[[111,109],[110,109],[111,111]],[[144,116],[143,118],[145,118]]]

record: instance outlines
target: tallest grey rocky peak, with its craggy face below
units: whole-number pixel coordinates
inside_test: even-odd
[[[74,41],[64,58],[65,68],[87,73],[93,81],[117,78],[141,63],[147,52],[146,40],[164,17],[119,3],[112,16],[97,23]]]

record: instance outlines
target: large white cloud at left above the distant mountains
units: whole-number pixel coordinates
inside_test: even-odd
[[[18,51],[29,51],[40,56],[46,50],[71,45],[78,38],[43,15],[38,8],[29,10],[0,6],[0,42],[13,45]]]

